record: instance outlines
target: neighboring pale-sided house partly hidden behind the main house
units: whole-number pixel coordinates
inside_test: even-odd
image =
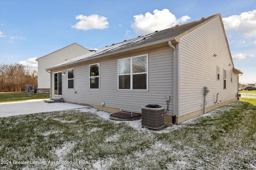
[[[50,74],[45,70],[46,68],[89,52],[91,51],[77,43],[73,43],[67,47],[36,59],[38,62],[38,93],[50,93]]]

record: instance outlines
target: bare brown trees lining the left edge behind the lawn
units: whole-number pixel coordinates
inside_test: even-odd
[[[22,64],[0,64],[0,91],[24,92],[26,84],[37,85],[37,71]]]

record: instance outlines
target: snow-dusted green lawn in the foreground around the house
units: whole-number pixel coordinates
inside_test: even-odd
[[[160,131],[108,116],[91,108],[0,118],[0,169],[256,168],[256,106],[247,102]]]

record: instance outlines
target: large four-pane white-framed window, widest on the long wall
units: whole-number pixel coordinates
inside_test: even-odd
[[[148,89],[148,55],[118,60],[118,89]]]

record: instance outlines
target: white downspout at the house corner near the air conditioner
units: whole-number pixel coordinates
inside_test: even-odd
[[[176,38],[175,38],[176,39]],[[169,47],[173,49],[173,109],[172,109],[172,124],[176,123],[176,48],[172,45],[171,41],[168,41]]]

